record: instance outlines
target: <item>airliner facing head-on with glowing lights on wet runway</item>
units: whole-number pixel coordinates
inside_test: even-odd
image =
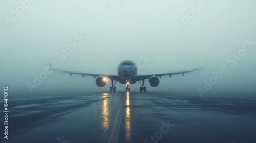
[[[72,74],[79,74],[79,75],[82,75],[83,77],[84,77],[84,75],[93,76],[94,78],[97,77],[95,82],[96,82],[96,85],[99,87],[105,86],[107,79],[110,79],[111,85],[112,85],[110,87],[110,92],[112,92],[112,91],[116,92],[116,87],[114,85],[117,82],[119,82],[120,84],[125,84],[126,85],[125,91],[130,92],[129,85],[135,84],[137,81],[141,84],[140,92],[142,92],[142,91],[146,92],[146,87],[144,86],[145,79],[148,79],[148,82],[150,83],[150,85],[152,87],[157,87],[160,83],[159,78],[161,78],[161,76],[169,75],[169,77],[171,77],[172,75],[175,75],[175,74],[182,74],[182,76],[183,76],[184,73],[189,73],[189,72],[192,72],[195,70],[202,69],[204,67],[204,64],[203,64],[202,68],[198,68],[198,69],[170,72],[170,73],[164,73],[164,74],[148,74],[148,75],[137,75],[137,72],[138,72],[137,65],[131,60],[124,60],[118,65],[118,68],[117,68],[118,75],[91,74],[91,73],[54,69],[52,67],[51,63],[50,63],[50,67],[52,70],[69,73],[70,76],[72,76]]]

